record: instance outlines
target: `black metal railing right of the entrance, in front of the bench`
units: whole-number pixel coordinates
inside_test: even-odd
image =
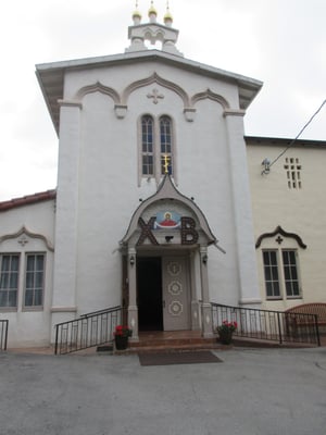
[[[316,314],[229,307],[212,302],[213,331],[224,321],[237,322],[234,336],[321,346]]]

